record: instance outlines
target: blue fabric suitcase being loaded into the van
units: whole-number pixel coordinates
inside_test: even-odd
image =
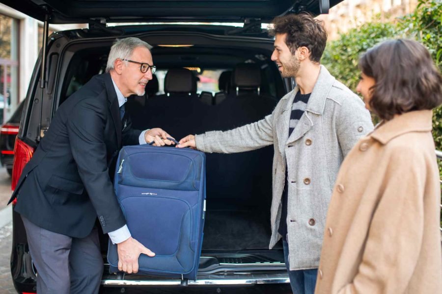
[[[114,189],[132,237],[156,253],[140,255],[138,274],[195,280],[203,239],[205,154],[189,148],[123,147]],[[111,272],[117,272],[117,246],[111,241],[108,261]]]

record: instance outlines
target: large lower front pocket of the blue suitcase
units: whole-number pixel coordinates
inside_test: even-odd
[[[139,270],[186,273],[193,269],[193,218],[186,201],[158,195],[129,196],[120,204],[132,237],[156,254],[141,254]]]

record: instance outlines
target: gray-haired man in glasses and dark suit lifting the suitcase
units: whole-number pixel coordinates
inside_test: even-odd
[[[131,128],[126,97],[143,95],[155,70],[151,46],[118,40],[105,74],[94,76],[58,107],[11,201],[25,224],[38,293],[98,293],[103,273],[97,228],[118,244],[119,270],[138,271],[155,253],[133,239],[111,182],[122,145],[170,145],[164,130]]]

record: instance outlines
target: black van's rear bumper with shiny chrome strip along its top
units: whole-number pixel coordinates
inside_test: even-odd
[[[33,293],[36,289],[35,269],[33,268],[32,259],[29,255],[26,231],[23,222],[20,215],[15,211],[13,211],[13,226],[13,246],[11,255],[12,280],[19,293]],[[206,260],[206,265],[209,265],[208,267],[210,267],[210,262],[213,258],[201,258]],[[111,288],[114,290],[121,288],[133,288],[134,290],[137,288],[149,288],[149,292],[155,293],[155,291],[159,291],[158,293],[164,294],[165,292],[162,292],[161,289],[167,288],[167,293],[175,293],[175,290],[177,291],[176,293],[182,293],[181,291],[183,289],[194,289],[194,292],[192,293],[207,294],[209,292],[204,289],[212,288],[213,290],[214,287],[215,290],[228,288],[228,293],[290,293],[290,280],[283,263],[263,262],[258,265],[248,263],[243,263],[241,265],[221,263],[220,265],[224,267],[222,270],[208,270],[210,273],[198,273],[197,279],[192,281],[187,279],[181,280],[153,276],[147,277],[136,274],[106,274],[106,272],[109,272],[109,265],[105,262],[105,274],[101,281],[101,288],[103,291],[100,291],[100,293],[112,293]],[[237,266],[241,266],[242,270],[233,269]],[[244,290],[245,287],[250,288],[250,292],[249,290],[241,290]],[[110,292],[107,290],[105,291],[105,288],[110,290]],[[261,289],[264,290],[261,291]],[[117,291],[116,293],[123,292]],[[140,293],[144,292],[141,291]],[[216,291],[214,293],[220,292]]]

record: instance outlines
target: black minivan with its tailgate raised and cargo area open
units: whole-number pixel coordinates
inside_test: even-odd
[[[319,14],[340,1],[0,0],[44,21],[45,31],[48,23],[89,24],[87,29],[43,38],[15,143],[12,190],[57,107],[93,75],[104,73],[116,38],[133,36],[148,42],[157,66],[145,96],[128,100],[133,126],[162,127],[179,139],[227,130],[270,114],[294,81],[281,78],[270,59],[273,38],[262,27],[275,16]],[[101,291],[290,293],[282,245],[269,249],[272,159],[272,147],[207,154],[206,220],[196,280],[110,274],[108,237],[101,234],[105,265]],[[35,293],[38,273],[15,212],[11,274],[19,293]]]

